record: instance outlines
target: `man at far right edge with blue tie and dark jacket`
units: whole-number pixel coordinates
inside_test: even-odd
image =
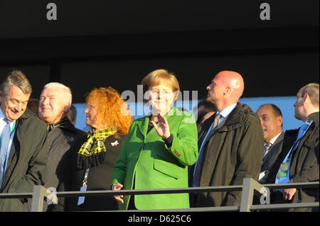
[[[294,116],[304,124],[287,130],[282,152],[272,166],[266,183],[319,181],[319,84],[299,90]],[[272,203],[319,202],[319,188],[287,188],[272,192]],[[317,208],[292,208],[289,211],[319,211]]]

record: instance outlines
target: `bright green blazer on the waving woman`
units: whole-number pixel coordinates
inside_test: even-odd
[[[188,166],[198,157],[196,121],[191,113],[172,108],[166,114],[173,135],[171,147],[152,128],[149,116],[132,122],[122,152],[114,165],[112,183],[125,190],[187,188]],[[124,196],[120,209],[127,210],[130,196]],[[138,210],[189,208],[188,193],[134,196]]]

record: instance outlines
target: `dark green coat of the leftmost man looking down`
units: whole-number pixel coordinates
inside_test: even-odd
[[[48,147],[46,124],[30,111],[17,120],[14,142],[0,193],[32,193],[33,186],[43,185],[46,176]],[[31,199],[0,199],[0,212],[28,211]]]

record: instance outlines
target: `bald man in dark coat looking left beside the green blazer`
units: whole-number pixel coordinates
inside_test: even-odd
[[[219,72],[207,86],[208,98],[217,107],[199,131],[199,157],[191,168],[194,187],[241,185],[244,178],[257,180],[263,154],[260,120],[251,108],[238,103],[245,89],[237,72]],[[193,207],[240,205],[239,191],[198,193]]]

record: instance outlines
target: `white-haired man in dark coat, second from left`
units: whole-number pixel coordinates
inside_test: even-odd
[[[58,82],[43,87],[39,103],[39,118],[48,129],[48,164],[46,188],[55,189],[64,180],[65,159],[75,140],[85,135],[70,123],[68,111],[72,104],[70,89]],[[46,203],[45,203],[46,210]]]

